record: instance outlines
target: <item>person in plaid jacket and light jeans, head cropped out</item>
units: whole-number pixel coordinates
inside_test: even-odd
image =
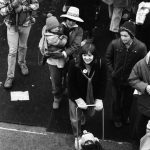
[[[5,16],[7,41],[9,46],[7,78],[5,88],[11,88],[15,77],[18,52],[18,64],[22,75],[29,73],[26,65],[27,40],[31,25],[35,22],[32,12],[39,8],[38,0],[1,0],[0,14]]]

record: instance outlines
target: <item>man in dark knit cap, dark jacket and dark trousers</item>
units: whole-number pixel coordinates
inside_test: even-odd
[[[120,27],[120,38],[113,40],[106,52],[106,63],[112,81],[112,119],[116,127],[129,122],[133,89],[129,74],[137,61],[147,52],[144,43],[135,38],[135,24],[126,21]]]

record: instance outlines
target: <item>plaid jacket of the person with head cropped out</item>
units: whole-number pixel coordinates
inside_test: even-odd
[[[15,13],[15,9],[11,7],[11,0],[5,2],[4,7],[0,9],[0,14],[5,16],[4,22],[6,25],[17,24],[19,26],[28,26],[35,22],[32,11],[39,8],[38,0],[22,0],[20,5],[23,7],[20,13]],[[16,19],[17,17],[18,19]],[[16,20],[18,20],[18,22],[16,22]]]

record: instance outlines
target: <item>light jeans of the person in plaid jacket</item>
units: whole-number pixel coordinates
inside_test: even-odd
[[[14,78],[15,75],[17,51],[18,64],[26,63],[27,40],[30,29],[31,26],[19,26],[17,30],[15,26],[7,26],[7,41],[9,46],[7,77],[9,78]]]

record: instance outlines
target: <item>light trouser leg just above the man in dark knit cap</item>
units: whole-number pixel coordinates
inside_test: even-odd
[[[120,27],[120,22],[122,18],[123,8],[113,7],[112,14],[110,14],[111,22],[110,22],[110,31],[118,32]]]

